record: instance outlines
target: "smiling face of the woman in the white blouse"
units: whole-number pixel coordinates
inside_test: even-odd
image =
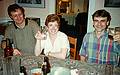
[[[49,22],[47,27],[48,27],[49,34],[52,34],[52,35],[57,34],[57,32],[59,30],[59,25],[58,25],[57,21]]]

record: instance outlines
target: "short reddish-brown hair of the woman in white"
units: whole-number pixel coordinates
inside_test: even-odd
[[[50,14],[47,16],[45,25],[48,26],[49,22],[57,21],[58,25],[60,26],[60,18],[56,14]]]

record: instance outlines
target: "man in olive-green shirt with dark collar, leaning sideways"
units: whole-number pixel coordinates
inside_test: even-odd
[[[13,23],[5,31],[5,39],[13,39],[14,54],[34,55],[35,34],[39,30],[36,22],[25,18],[25,10],[17,4],[8,7],[8,15]]]

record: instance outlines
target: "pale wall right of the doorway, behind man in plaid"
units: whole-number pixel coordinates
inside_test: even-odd
[[[106,9],[110,12],[112,16],[110,27],[120,26],[120,8],[104,7],[104,0],[89,0],[87,32],[94,30],[91,16],[98,9]]]

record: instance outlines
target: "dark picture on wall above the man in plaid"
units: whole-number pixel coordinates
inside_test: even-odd
[[[120,0],[105,0],[105,7],[120,7]]]

